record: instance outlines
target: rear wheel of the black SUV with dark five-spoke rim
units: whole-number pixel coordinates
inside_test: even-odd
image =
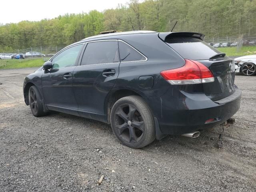
[[[111,110],[110,120],[118,140],[130,148],[142,148],[156,138],[152,113],[140,96],[119,99]]]

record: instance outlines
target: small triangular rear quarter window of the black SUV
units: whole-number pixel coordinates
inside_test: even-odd
[[[132,46],[118,41],[120,61],[121,62],[130,62],[130,61],[144,61],[146,58]]]

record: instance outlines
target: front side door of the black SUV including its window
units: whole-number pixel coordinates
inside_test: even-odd
[[[78,115],[72,78],[83,46],[79,44],[60,52],[51,60],[52,69],[42,75],[42,91],[49,110]]]

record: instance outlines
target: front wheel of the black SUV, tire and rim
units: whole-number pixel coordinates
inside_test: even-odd
[[[35,117],[46,115],[44,112],[42,97],[36,86],[31,86],[29,88],[28,98],[31,112]]]

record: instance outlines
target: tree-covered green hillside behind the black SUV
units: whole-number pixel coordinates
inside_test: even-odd
[[[105,30],[201,32],[206,38],[256,35],[256,0],[130,0],[126,6],[0,25],[0,52],[66,46]]]

